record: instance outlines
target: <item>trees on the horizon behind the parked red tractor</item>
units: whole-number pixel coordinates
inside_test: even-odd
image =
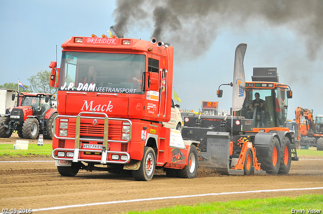
[[[24,88],[19,88],[19,92],[33,92],[44,94],[57,94],[58,88],[50,87],[50,72],[40,70],[36,75],[27,78],[30,85],[25,85]],[[18,82],[18,79],[17,79]],[[0,88],[18,90],[18,83],[5,83]]]

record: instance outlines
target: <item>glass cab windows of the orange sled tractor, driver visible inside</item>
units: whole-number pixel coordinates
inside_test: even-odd
[[[253,127],[286,127],[287,93],[284,88],[246,90],[240,115],[253,119]]]

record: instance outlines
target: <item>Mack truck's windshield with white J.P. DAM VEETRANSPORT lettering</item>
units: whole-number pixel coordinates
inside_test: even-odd
[[[59,90],[144,93],[145,55],[63,52]]]

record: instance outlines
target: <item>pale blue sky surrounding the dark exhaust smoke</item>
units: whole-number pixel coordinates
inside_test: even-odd
[[[102,35],[115,25],[116,8],[116,1],[0,1],[0,85],[17,83],[18,79],[29,85],[27,78],[49,70],[50,61],[56,61],[56,45],[59,64],[61,44],[67,39]],[[124,36],[150,40],[154,22],[149,16],[132,20]],[[201,101],[219,101],[220,109],[229,110],[232,88],[223,88],[223,98],[217,98],[216,91],[220,84],[233,81],[235,48],[247,43],[246,81],[251,81],[253,67],[277,67],[280,82],[293,91],[288,118],[294,118],[297,106],[313,109],[314,115],[323,114],[323,52],[318,43],[315,58],[308,56],[311,34],[301,29],[306,19],[298,25],[293,20],[268,21],[261,15],[239,22],[224,21],[222,13],[210,12],[206,18],[203,28],[196,28],[196,20],[182,16],[180,31],[163,34],[164,42],[175,48],[173,86],[182,100],[181,109],[197,111]],[[207,45],[201,48],[201,42]]]

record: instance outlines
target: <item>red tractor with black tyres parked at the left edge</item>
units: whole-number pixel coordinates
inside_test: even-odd
[[[52,139],[53,120],[58,115],[52,108],[53,95],[23,92],[19,98],[20,106],[0,119],[0,137],[17,131],[21,138],[36,139],[43,134],[45,139]]]

